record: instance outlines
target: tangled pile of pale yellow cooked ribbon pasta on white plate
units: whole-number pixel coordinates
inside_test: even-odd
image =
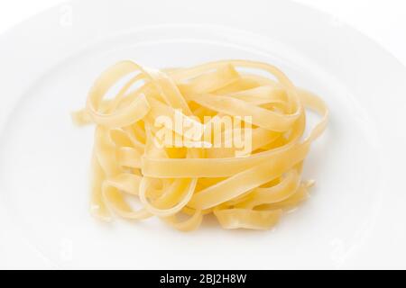
[[[306,109],[320,116],[309,135]],[[261,62],[156,70],[125,60],[99,76],[72,117],[96,125],[98,218],[156,216],[189,231],[212,214],[225,229],[270,229],[309,195],[302,165],[328,109]]]

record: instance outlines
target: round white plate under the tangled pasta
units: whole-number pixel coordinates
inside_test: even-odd
[[[259,59],[320,94],[331,120],[306,162],[309,202],[266,232],[92,219],[92,130],[69,112],[123,58]],[[285,0],[81,0],[3,35],[0,63],[0,267],[406,267],[406,69],[327,15]]]

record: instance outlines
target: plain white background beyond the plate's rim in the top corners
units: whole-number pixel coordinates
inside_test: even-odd
[[[112,0],[114,1],[114,0]],[[406,2],[404,0],[295,0],[349,23],[378,41],[406,65]],[[0,33],[65,0],[0,1]]]

